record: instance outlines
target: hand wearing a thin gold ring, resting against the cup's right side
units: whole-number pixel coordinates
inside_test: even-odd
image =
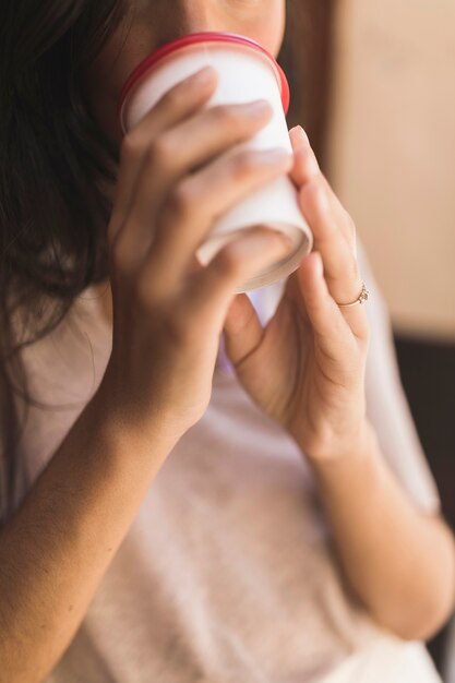
[[[226,354],[252,399],[310,459],[333,459],[361,450],[367,434],[369,325],[363,305],[338,308],[362,288],[354,221],[300,127],[290,140],[289,176],[314,236],[313,252],[289,276],[264,328],[247,295],[236,296],[224,326]]]

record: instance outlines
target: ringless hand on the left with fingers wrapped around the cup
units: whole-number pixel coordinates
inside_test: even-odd
[[[202,417],[236,287],[289,250],[277,232],[255,228],[207,266],[196,262],[215,219],[292,166],[286,153],[223,154],[272,110],[203,109],[216,82],[205,68],[179,83],[121,144],[108,225],[112,352],[100,388],[105,409],[143,435],[157,415],[176,440]]]

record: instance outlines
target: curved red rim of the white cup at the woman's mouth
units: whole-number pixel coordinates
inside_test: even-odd
[[[242,36],[237,33],[221,33],[221,32],[205,31],[202,33],[189,34],[187,36],[182,36],[181,38],[170,40],[169,43],[166,43],[157,50],[154,50],[151,55],[148,55],[145,59],[143,59],[143,61],[140,62],[140,64],[137,64],[137,67],[131,72],[131,74],[127,79],[121,89],[119,99],[118,99],[117,117],[119,119],[120,124],[122,121],[122,111],[127,103],[128,95],[131,93],[133,87],[137,84],[137,82],[141,80],[144,73],[148,71],[151,67],[155,65],[157,62],[161,61],[165,57],[168,57],[169,55],[177,51],[178,49],[188,47],[191,45],[196,45],[197,43],[230,43],[234,45],[237,44],[237,45],[242,45],[243,47],[244,46],[250,47],[256,51],[262,52],[262,55],[265,55],[268,58],[268,60],[272,62],[275,73],[278,76],[277,80],[279,83],[283,109],[284,109],[285,116],[287,115],[288,109],[289,109],[289,101],[290,101],[289,84],[288,84],[285,72],[283,71],[282,67],[278,64],[274,56],[271,55],[268,50],[266,50],[260,43],[256,43],[256,40],[253,40],[252,38],[248,38],[247,36]]]

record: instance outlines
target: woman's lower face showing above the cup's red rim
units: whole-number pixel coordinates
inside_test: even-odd
[[[85,74],[92,111],[112,141],[121,144],[116,105],[133,69],[164,43],[190,33],[241,33],[275,57],[283,43],[286,11],[283,0],[194,2],[133,0],[128,16]]]

